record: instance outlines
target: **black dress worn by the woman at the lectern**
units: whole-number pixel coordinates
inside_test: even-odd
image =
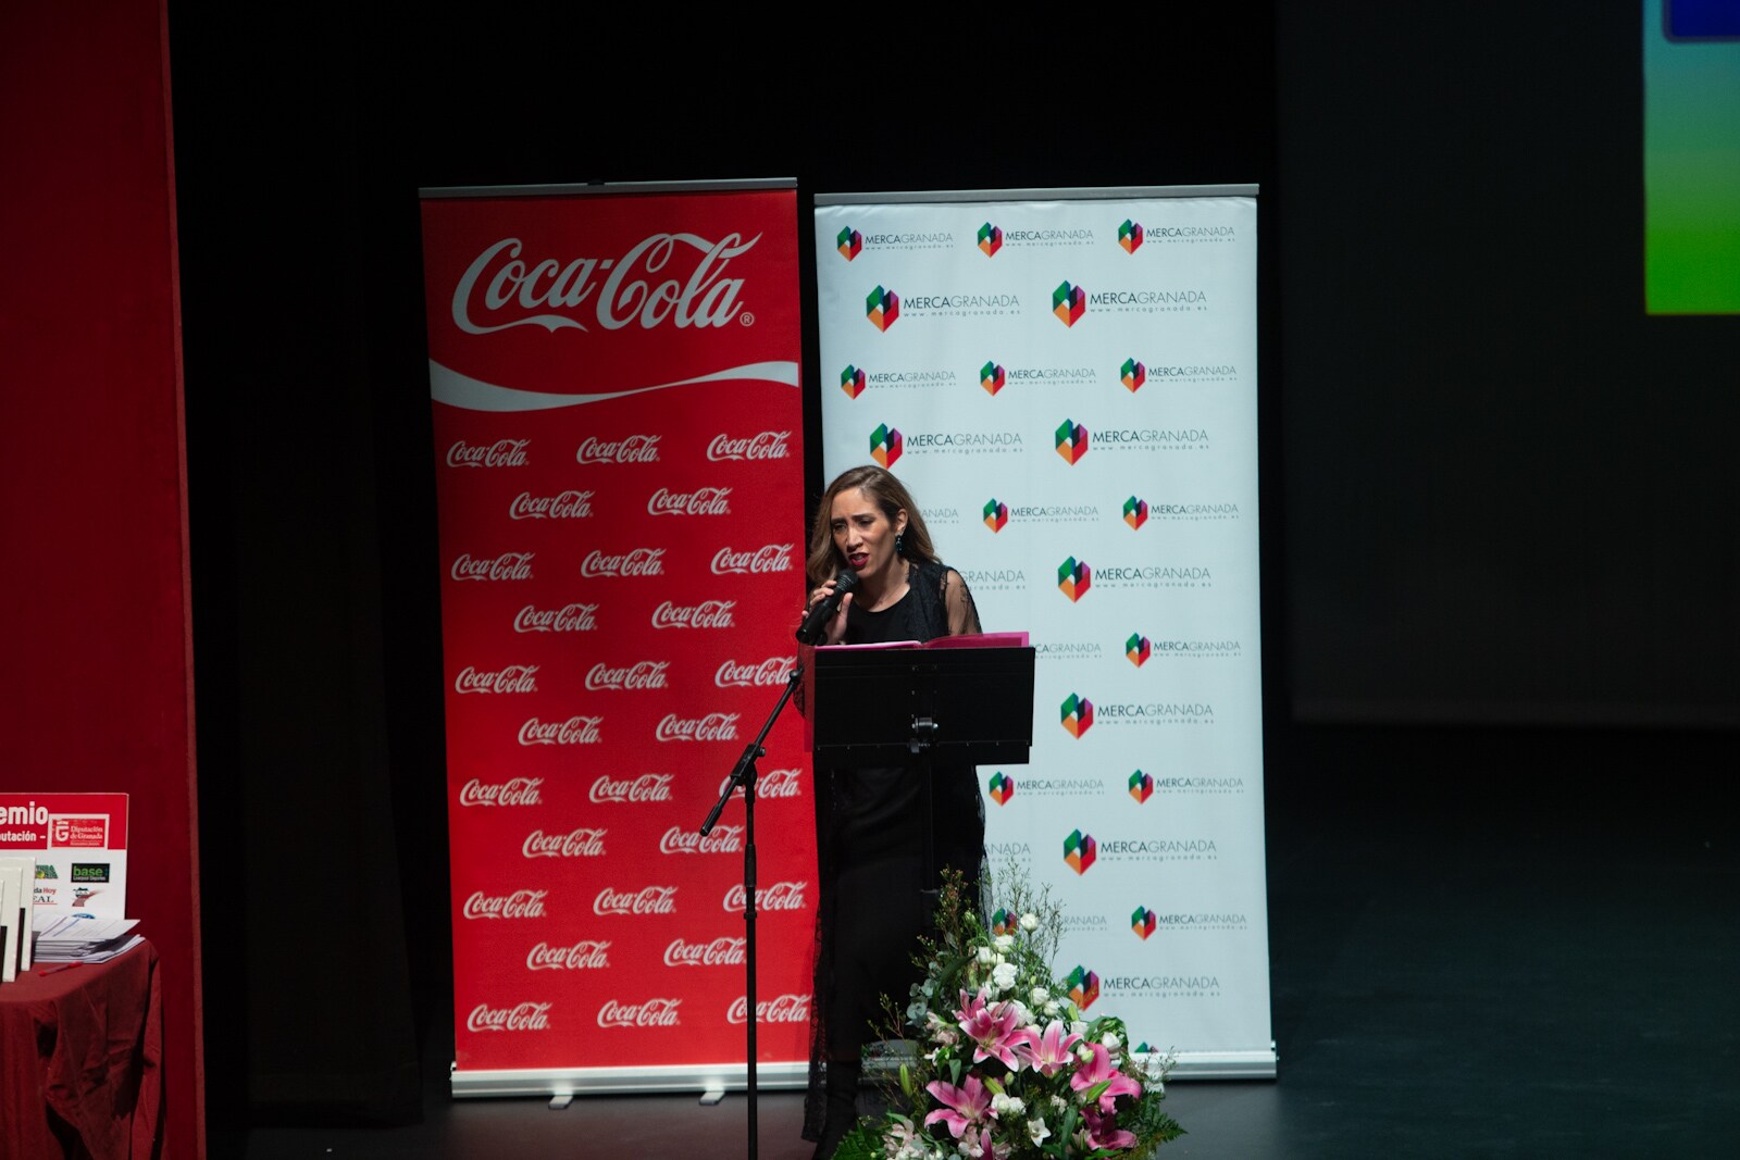
[[[947,590],[960,586],[955,616]],[[950,633],[950,619],[955,630]],[[934,640],[980,631],[966,581],[943,563],[919,563],[896,603],[847,607],[846,643]],[[980,880],[985,803],[971,765],[931,765],[933,843],[938,866]],[[924,882],[922,786],[914,765],[816,769],[816,998],[811,1009],[809,1094],[804,1137],[820,1139],[828,1059],[856,1059],[882,1023],[882,995],[905,1009],[919,981],[912,963],[931,932],[936,882]]]

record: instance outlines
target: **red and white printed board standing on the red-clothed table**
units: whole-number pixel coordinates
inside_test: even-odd
[[[127,917],[125,793],[0,793],[0,856],[37,861],[37,929],[68,915]]]

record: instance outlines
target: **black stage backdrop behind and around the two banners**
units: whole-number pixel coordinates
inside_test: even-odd
[[[1270,826],[1420,809],[1397,729],[1731,744],[1740,320],[1643,317],[1636,12],[1291,7],[172,5],[212,1155],[451,1052],[421,186],[795,177],[809,263],[825,191],[1258,183]]]

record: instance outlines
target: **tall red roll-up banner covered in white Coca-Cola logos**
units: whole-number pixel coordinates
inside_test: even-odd
[[[741,1085],[745,809],[802,600],[792,183],[423,193],[454,1094]],[[790,720],[785,720],[790,718]],[[757,1071],[807,1057],[795,715],[757,762]]]

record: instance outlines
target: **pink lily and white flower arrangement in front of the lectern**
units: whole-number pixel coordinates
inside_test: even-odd
[[[1049,889],[1011,873],[987,925],[959,871],[945,871],[924,981],[884,1002],[889,1108],[861,1118],[835,1160],[1134,1160],[1183,1129],[1161,1110],[1171,1059],[1131,1054],[1124,1023],[1086,1019],[1053,976],[1061,930]]]

